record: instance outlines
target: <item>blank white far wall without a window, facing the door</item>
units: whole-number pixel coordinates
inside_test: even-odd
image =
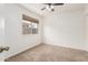
[[[85,50],[84,10],[55,13],[45,18],[43,42],[47,44]]]

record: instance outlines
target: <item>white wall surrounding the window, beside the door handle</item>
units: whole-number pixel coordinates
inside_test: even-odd
[[[41,43],[41,17],[19,4],[6,4],[6,43],[10,47],[6,57],[12,56]],[[39,19],[38,34],[22,34],[22,14]]]

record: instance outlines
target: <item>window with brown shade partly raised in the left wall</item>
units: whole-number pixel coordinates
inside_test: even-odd
[[[38,20],[22,15],[22,33],[38,34]]]

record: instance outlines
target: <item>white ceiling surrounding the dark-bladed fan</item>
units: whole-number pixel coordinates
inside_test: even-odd
[[[21,3],[25,8],[40,14],[40,15],[48,15],[51,13],[60,13],[60,12],[67,12],[67,11],[77,11],[77,10],[84,10],[85,3],[65,3],[63,6],[55,6],[55,12],[50,12],[48,10],[41,11],[41,9],[46,6],[42,3]]]

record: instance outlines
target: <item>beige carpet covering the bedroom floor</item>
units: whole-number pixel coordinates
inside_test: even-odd
[[[88,62],[88,52],[40,44],[6,59],[7,62]]]

